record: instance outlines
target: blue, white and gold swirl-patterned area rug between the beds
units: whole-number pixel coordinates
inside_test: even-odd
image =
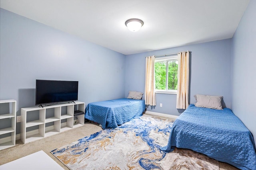
[[[173,121],[143,115],[52,150],[71,170],[218,170],[218,161],[192,150],[164,153]]]

